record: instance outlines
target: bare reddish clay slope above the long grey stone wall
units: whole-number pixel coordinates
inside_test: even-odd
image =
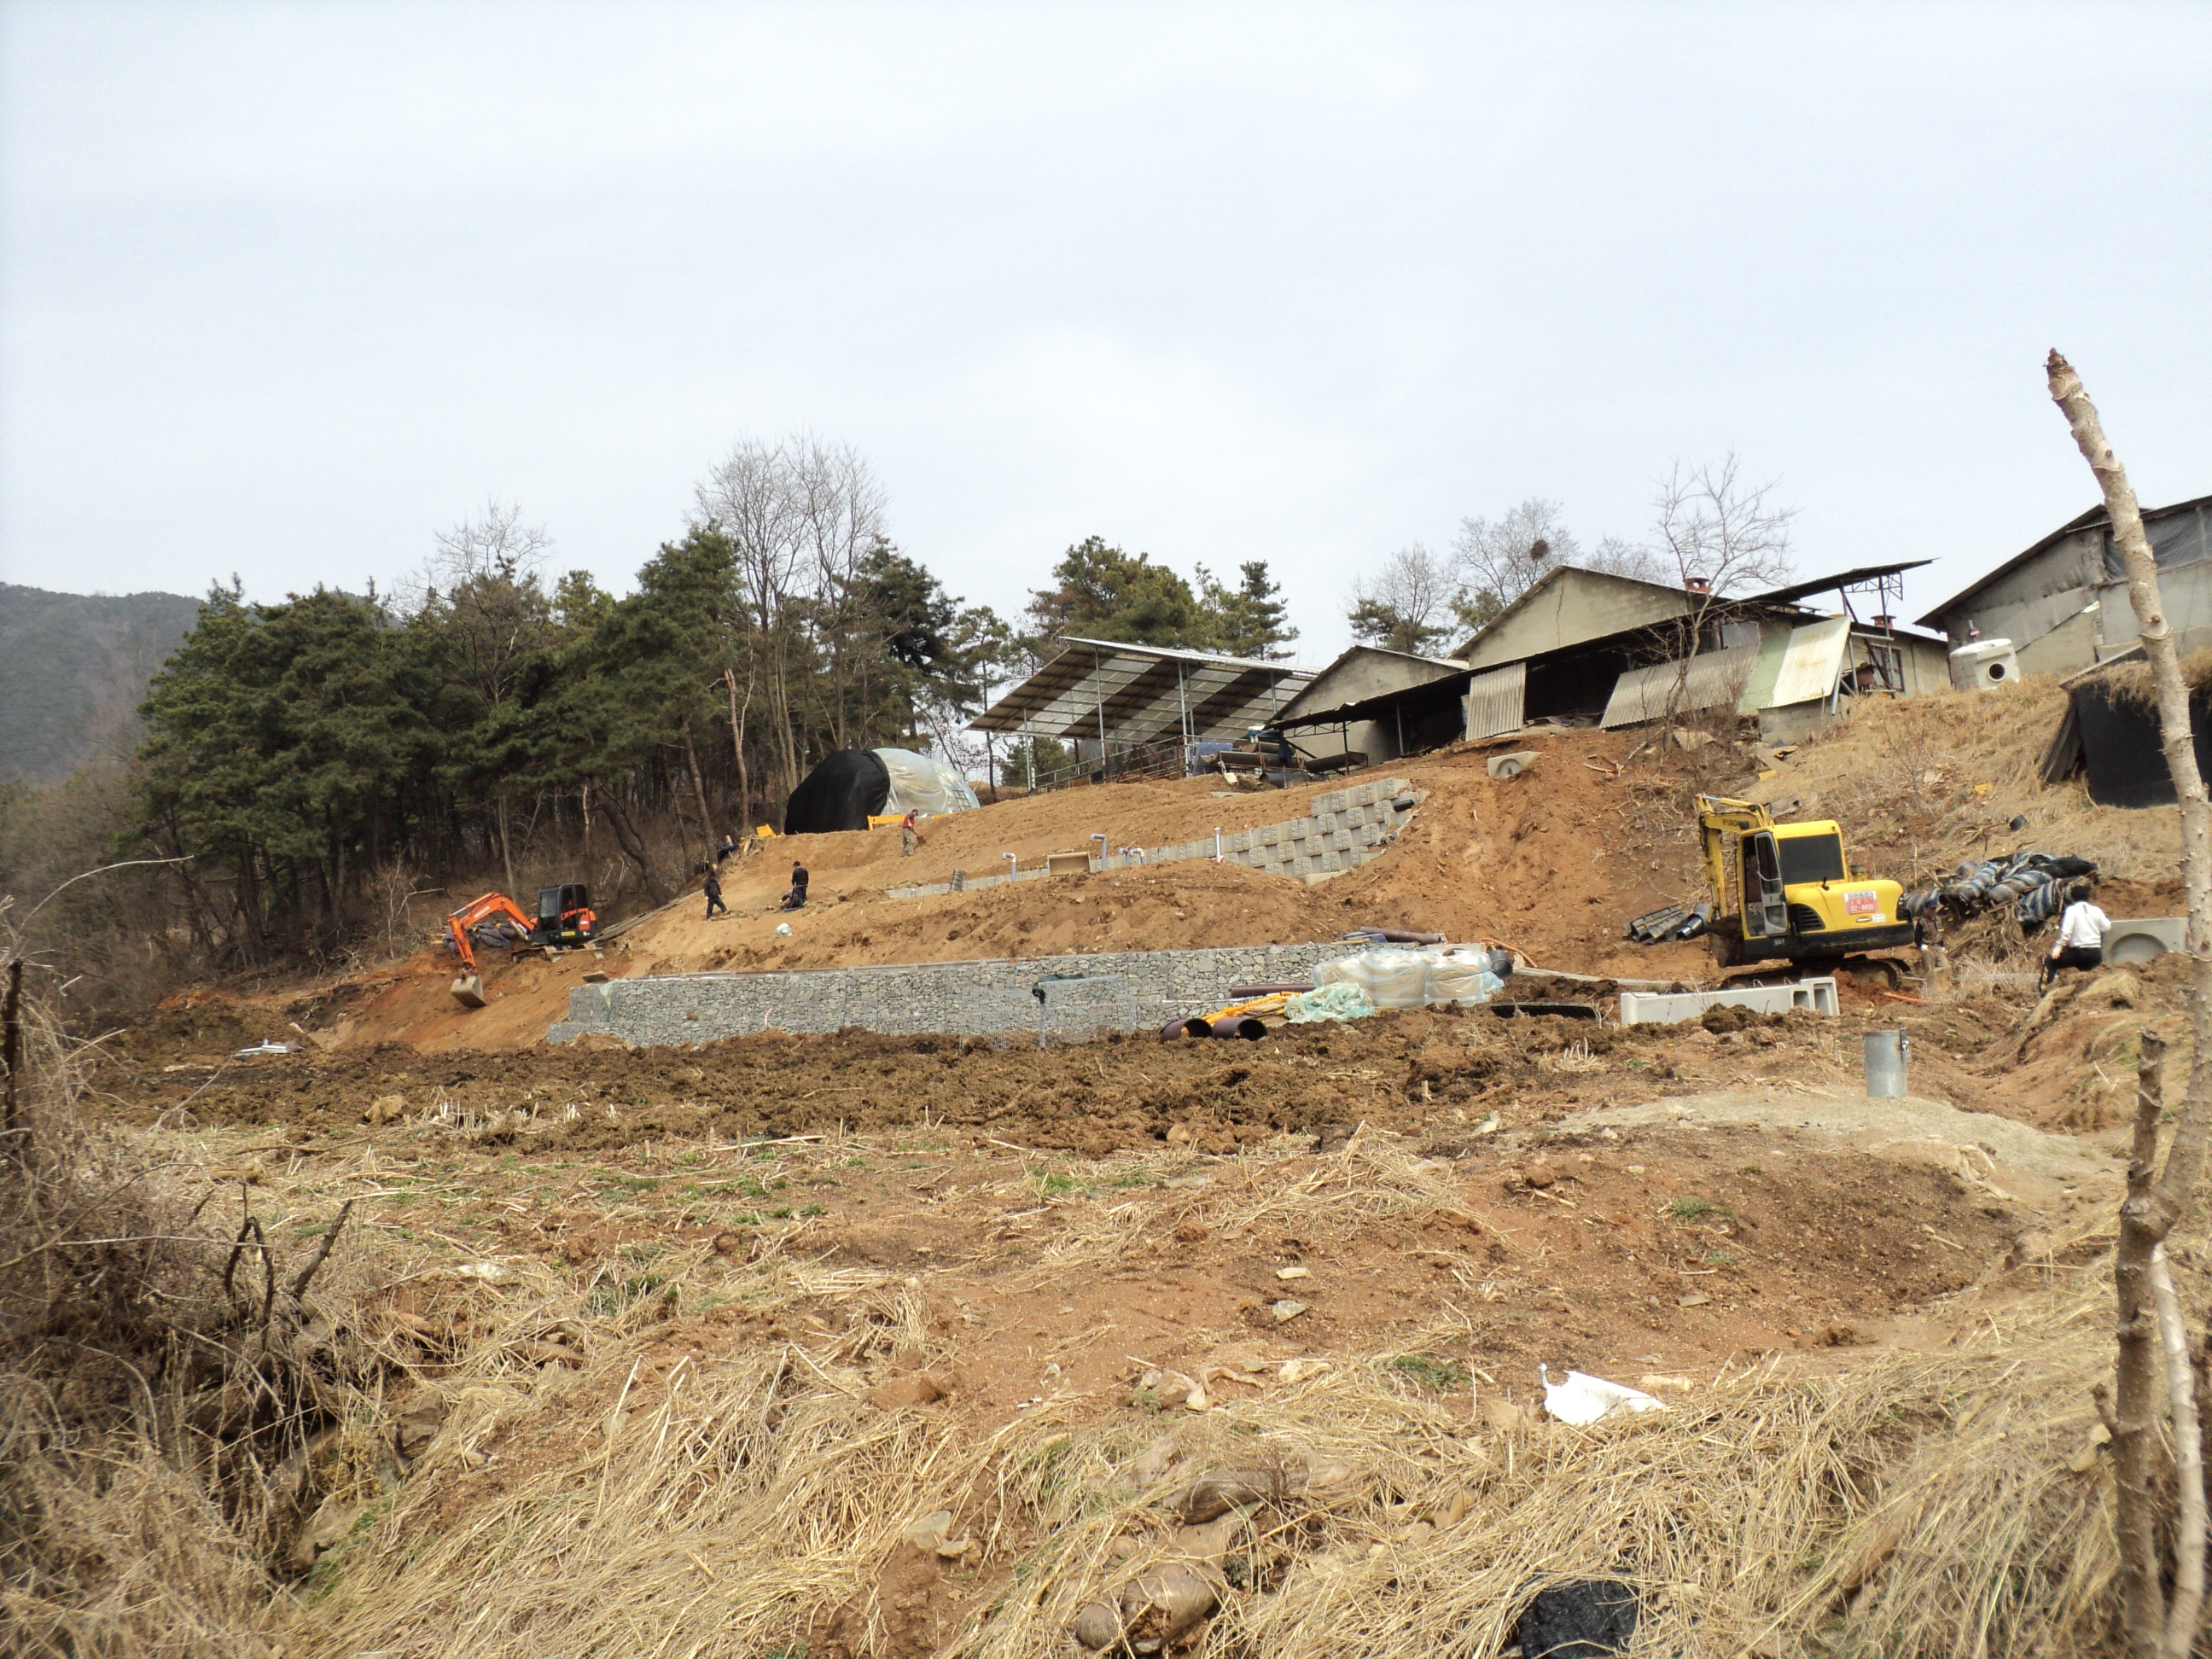
[[[1312,885],[1197,858],[931,898],[887,896],[891,887],[947,880],[953,869],[998,872],[1000,852],[1033,867],[1048,852],[1082,849],[1093,830],[1121,847],[1281,823],[1305,814],[1310,799],[1327,792],[1314,785],[1230,794],[1214,787],[1217,779],[1115,783],[1011,796],[931,821],[911,858],[900,856],[896,830],[761,843],[750,858],[723,869],[730,916],[706,920],[706,902],[692,894],[633,922],[597,958],[568,953],[546,962],[531,953],[502,960],[487,951],[484,1009],[465,1011],[451,1000],[447,987],[456,962],[440,949],[314,993],[257,1002],[263,1013],[283,1013],[272,1035],[305,1035],[321,1046],[405,1042],[425,1053],[511,1053],[544,1040],[588,971],[617,978],[752,973],[1307,942],[1338,938],[1356,925],[1504,942],[1531,962],[1575,973],[1712,982],[1717,971],[1701,942],[1639,947],[1624,938],[1624,925],[1703,894],[1688,816],[1692,792],[1750,790],[1756,779],[1745,770],[1750,761],[1721,745],[1694,757],[1670,752],[1663,765],[1646,754],[1621,770],[1630,739],[1621,732],[1515,737],[1513,745],[1535,750],[1537,759],[1513,779],[1491,779],[1484,768],[1498,743],[1358,774],[1402,776],[1427,794],[1394,845],[1360,869]],[[1823,739],[1827,745],[1838,741]],[[1851,823],[1845,836],[1854,838]],[[1900,854],[1869,852],[1867,863],[1905,883],[1927,876],[1891,869],[1885,856]],[[792,858],[812,874],[812,902],[783,914],[776,902]],[[2115,883],[2106,907],[2115,916],[2166,914],[2174,905],[2172,887]],[[790,925],[792,936],[779,938],[779,925]],[[2008,967],[2033,964],[2028,947],[1991,938]]]

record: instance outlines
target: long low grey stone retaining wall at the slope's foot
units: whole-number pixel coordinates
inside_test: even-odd
[[[686,1046],[752,1031],[858,1026],[894,1035],[1093,1037],[1157,1031],[1208,1013],[1232,984],[1310,980],[1360,942],[1243,945],[1217,951],[1095,951],[995,962],[916,962],[796,973],[670,973],[580,984],[546,1042],[586,1033]],[[1042,993],[1042,1000],[1040,1000]]]

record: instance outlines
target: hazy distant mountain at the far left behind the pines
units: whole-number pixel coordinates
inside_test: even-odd
[[[199,617],[179,593],[46,593],[0,582],[0,783],[51,783],[139,739],[146,684]]]

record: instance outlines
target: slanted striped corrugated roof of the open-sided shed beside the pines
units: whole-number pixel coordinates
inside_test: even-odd
[[[1267,726],[1314,679],[1287,661],[1060,639],[1066,650],[969,721],[971,732],[1152,743],[1234,739]]]

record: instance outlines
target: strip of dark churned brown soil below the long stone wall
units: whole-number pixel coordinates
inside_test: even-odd
[[[1582,987],[1517,978],[1517,989]],[[1484,1124],[1520,1128],[1595,1106],[1747,1086],[1854,1099],[1865,1093],[1860,1035],[1900,1026],[1911,1035],[1916,1095],[2108,1135],[2126,1113],[2148,1020],[2170,1033],[2174,1086],[2188,1075],[2181,989],[2174,958],[2066,975],[2042,1004],[2008,982],[1927,1002],[1847,984],[1840,1020],[1728,1011],[1710,1026],[1613,1026],[1420,1009],[1283,1026],[1259,1044],[1141,1035],[1048,1051],[845,1031],[761,1033],[706,1048],[586,1042],[487,1055],[389,1044],[232,1060],[237,1026],[181,1026],[184,1015],[170,1015],[111,1040],[97,1082],[113,1108],[142,1121],[181,1110],[208,1124],[301,1124],[338,1137],[396,1097],[405,1115],[460,1124],[520,1110],[555,1139],[588,1148],[653,1135],[945,1124],[1108,1155],[1170,1135],[1199,1150],[1234,1150],[1285,1133],[1347,1135],[1358,1124],[1464,1141]],[[195,1046],[210,1035],[219,1042]]]

